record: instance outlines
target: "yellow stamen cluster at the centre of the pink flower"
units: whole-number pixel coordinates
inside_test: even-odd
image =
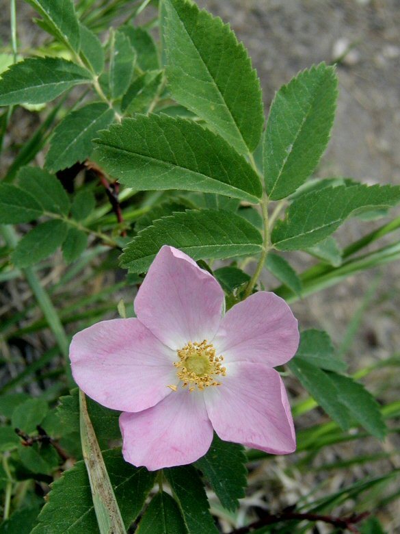
[[[215,355],[215,348],[207,340],[201,343],[189,341],[178,353],[179,361],[174,362],[178,368],[176,374],[183,382],[182,387],[189,385],[189,391],[202,391],[210,385],[221,385],[215,380],[215,376],[226,374],[226,368],[222,367],[223,356]],[[176,385],[169,385],[173,391],[177,390]]]

